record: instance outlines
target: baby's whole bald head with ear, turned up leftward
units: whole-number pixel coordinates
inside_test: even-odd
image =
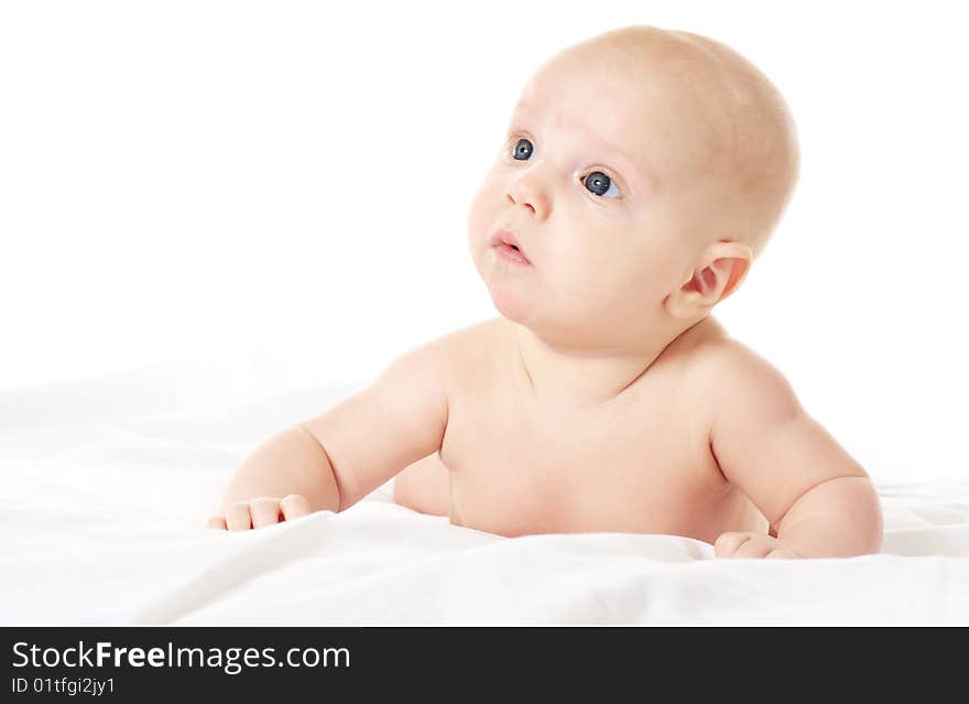
[[[743,280],[797,171],[784,99],[747,59],[625,28],[566,48],[525,86],[468,239],[498,310],[543,337],[675,336]],[[527,264],[500,256],[502,230]]]

